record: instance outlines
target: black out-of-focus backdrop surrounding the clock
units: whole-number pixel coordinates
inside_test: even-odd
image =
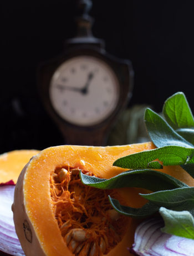
[[[75,35],[74,0],[1,1],[0,153],[64,144],[40,102],[40,62],[63,51]],[[193,1],[94,0],[94,36],[106,51],[130,59],[135,71],[129,107],[159,112],[183,91],[193,101]]]

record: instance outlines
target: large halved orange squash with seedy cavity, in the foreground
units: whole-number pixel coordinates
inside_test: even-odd
[[[13,215],[18,238],[28,255],[130,255],[135,223],[111,210],[107,195],[139,208],[143,189],[98,190],[84,186],[75,169],[109,179],[124,171],[113,166],[119,157],[154,149],[151,142],[111,147],[57,146],[34,156],[17,181]],[[179,166],[164,168],[188,185]]]

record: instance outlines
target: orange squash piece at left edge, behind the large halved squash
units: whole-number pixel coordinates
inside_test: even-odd
[[[0,185],[13,181],[16,184],[19,174],[30,158],[38,154],[38,150],[13,150],[0,155]]]

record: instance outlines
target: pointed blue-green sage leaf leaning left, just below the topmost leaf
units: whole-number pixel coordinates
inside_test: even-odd
[[[177,134],[172,127],[151,109],[145,111],[145,124],[149,136],[156,147],[181,146],[191,148],[193,145]]]

